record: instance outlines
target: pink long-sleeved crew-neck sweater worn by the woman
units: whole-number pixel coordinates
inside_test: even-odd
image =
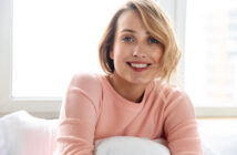
[[[76,74],[61,107],[60,155],[93,155],[94,141],[110,136],[163,137],[172,155],[203,154],[186,93],[154,81],[137,104],[116,93],[105,75]]]

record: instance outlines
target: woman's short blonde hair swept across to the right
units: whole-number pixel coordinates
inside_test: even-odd
[[[137,11],[151,35],[162,43],[163,55],[159,60],[159,70],[157,72],[162,81],[169,82],[181,59],[181,51],[167,16],[152,0],[130,0],[115,12],[99,45],[100,63],[103,71],[107,74],[113,74],[114,72],[114,63],[110,59],[110,51],[113,48],[117,20],[127,10]]]

